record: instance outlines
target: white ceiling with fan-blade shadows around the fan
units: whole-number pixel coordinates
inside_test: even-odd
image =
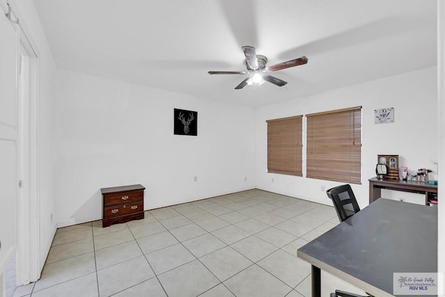
[[[437,0],[35,0],[58,66],[261,106],[437,64]],[[287,81],[234,90],[243,45]]]

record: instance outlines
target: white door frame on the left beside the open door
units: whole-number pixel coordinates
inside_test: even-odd
[[[20,147],[17,151],[17,179],[22,188],[17,190],[17,285],[29,284],[40,278],[40,200],[39,200],[39,59],[38,48],[31,33],[16,9],[10,3],[13,26],[17,29],[17,56],[23,56],[19,65],[26,74],[17,78],[17,111]],[[6,0],[0,0],[0,8],[8,13]],[[1,10],[0,10],[1,11]],[[18,185],[17,185],[18,186]]]

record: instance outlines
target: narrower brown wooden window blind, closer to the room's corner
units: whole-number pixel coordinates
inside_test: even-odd
[[[267,170],[302,176],[302,115],[267,122]]]

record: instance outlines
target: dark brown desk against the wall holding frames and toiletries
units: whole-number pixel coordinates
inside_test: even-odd
[[[369,179],[369,204],[382,197],[382,191],[380,190],[382,188],[424,194],[426,205],[429,204],[428,197],[430,193],[437,194],[437,185],[431,185],[426,182],[407,182],[397,179],[378,179],[377,177],[373,177]]]

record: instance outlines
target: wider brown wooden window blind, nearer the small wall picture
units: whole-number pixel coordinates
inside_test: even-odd
[[[362,106],[306,116],[306,176],[361,184]]]

